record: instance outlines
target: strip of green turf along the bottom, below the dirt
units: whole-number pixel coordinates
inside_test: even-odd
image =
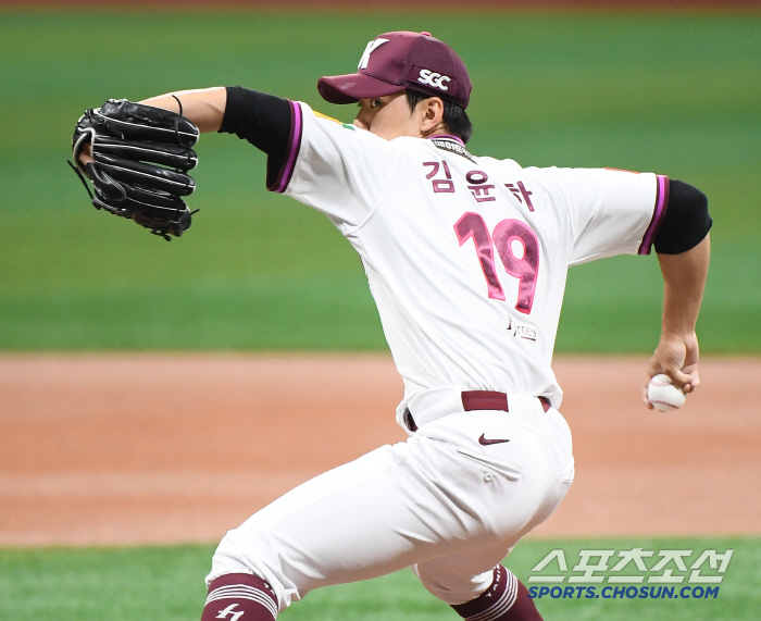
[[[761,539],[573,539],[525,541],[508,566],[526,582],[552,549],[564,550],[569,568],[579,549],[734,549],[710,599],[538,600],[549,620],[741,621],[758,619]],[[0,549],[0,618],[14,621],[195,621],[203,607],[203,576],[211,546],[118,549]],[[617,557],[614,557],[617,558]],[[592,560],[592,562],[596,562]],[[652,562],[648,561],[648,566]],[[578,572],[576,572],[578,573]],[[678,574],[678,571],[675,571]],[[598,586],[598,589],[601,587]],[[599,591],[598,591],[599,592]],[[364,583],[315,591],[279,617],[283,621],[434,621],[458,619],[408,571]]]

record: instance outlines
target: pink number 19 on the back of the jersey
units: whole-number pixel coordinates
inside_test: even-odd
[[[473,238],[489,297],[504,300],[504,290],[495,270],[494,245],[508,274],[519,280],[515,309],[525,314],[532,312],[539,271],[539,240],[531,227],[520,220],[503,220],[495,226],[494,235],[489,235],[482,215],[469,211],[454,224],[454,233],[460,246]],[[515,253],[515,243],[523,248],[523,252]]]

